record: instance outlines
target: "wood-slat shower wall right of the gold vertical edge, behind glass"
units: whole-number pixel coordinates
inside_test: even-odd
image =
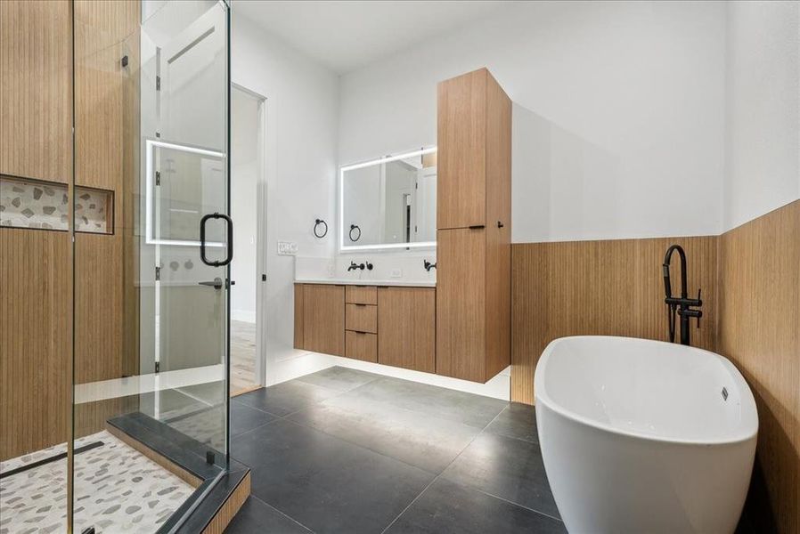
[[[76,0],[74,5],[75,183],[114,191],[118,206],[113,235],[76,236],[75,380],[85,384],[138,372],[138,358],[123,346],[123,340],[138,338],[124,320],[138,315],[132,287],[136,241],[123,236],[133,234],[132,216],[126,213],[132,198],[126,195],[134,188],[125,181],[135,182],[131,161],[138,117],[135,109],[125,106],[135,106],[136,101],[131,72],[137,72],[138,51],[134,53],[131,44],[138,38],[140,6],[97,0]],[[124,55],[127,67],[122,66]],[[126,242],[129,249],[124,248]],[[129,404],[118,400],[78,407],[76,415],[97,426],[77,425],[76,431],[97,432],[106,417],[125,406],[131,409]]]

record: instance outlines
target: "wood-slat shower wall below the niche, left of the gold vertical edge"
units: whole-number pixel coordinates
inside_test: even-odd
[[[0,460],[66,441],[69,234],[0,230]]]

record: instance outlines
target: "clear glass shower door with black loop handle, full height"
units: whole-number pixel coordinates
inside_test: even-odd
[[[147,16],[147,13],[145,13]],[[228,18],[223,3],[167,3],[143,22],[143,233],[152,291],[143,413],[226,450]]]

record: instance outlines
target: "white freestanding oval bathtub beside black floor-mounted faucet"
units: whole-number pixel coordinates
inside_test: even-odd
[[[736,529],[758,416],[730,361],[628,337],[556,339],[535,373],[544,468],[567,530]]]

